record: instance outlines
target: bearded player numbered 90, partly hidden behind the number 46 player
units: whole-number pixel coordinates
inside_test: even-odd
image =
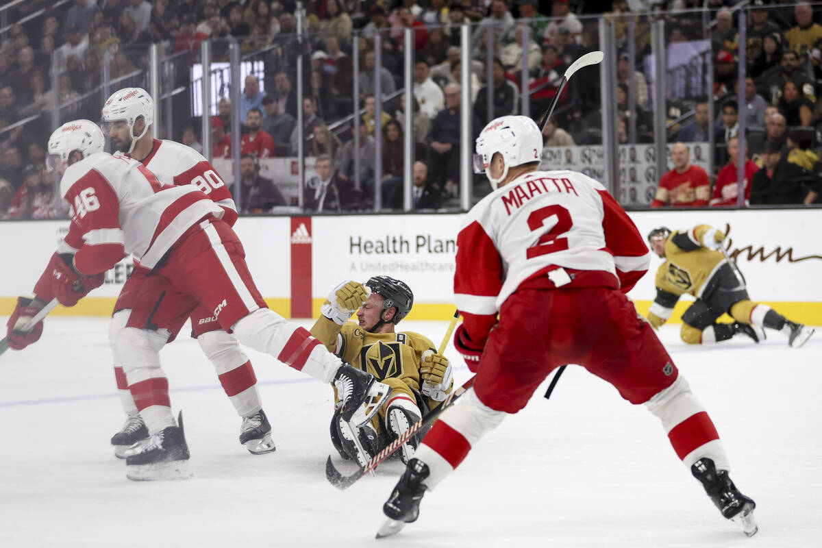
[[[115,91],[104,104],[102,118],[104,131],[111,138],[115,150],[136,159],[152,173],[171,177],[174,185],[196,187],[223,209],[224,223],[233,226],[237,221],[237,207],[234,205],[229,187],[202,154],[173,140],[158,140],[152,137],[154,100],[148,92],[141,88]],[[137,411],[132,393],[128,389],[122,368],[123,358],[118,355],[114,341],[127,326],[143,327],[134,325],[134,322],[129,320],[134,300],[149,274],[149,269],[138,262],[135,263],[132,274],[123,285],[114,305],[109,330],[114,379],[117,382],[122,407],[127,414],[122,431],[113,435],[111,439],[114,454],[119,458],[126,458],[130,451],[136,450],[132,447],[133,444],[148,438],[145,422]],[[173,306],[173,303],[160,302],[151,318],[151,324],[157,326],[158,334],[168,334],[168,342],[171,342],[171,334],[176,334],[181,326],[173,325],[172,320],[179,320],[179,316],[177,311],[170,309],[169,306]],[[205,356],[214,364],[225,394],[238,415],[242,417],[240,443],[252,454],[274,451],[271,425],[266,412],[262,409],[251,360],[240,348],[237,338],[219,325],[214,317],[214,311],[199,306],[192,313],[191,320],[192,337],[197,339]]]

